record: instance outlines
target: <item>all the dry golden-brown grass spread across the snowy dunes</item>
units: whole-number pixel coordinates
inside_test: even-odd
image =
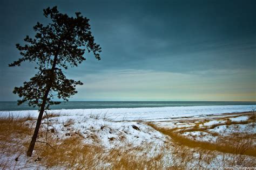
[[[48,115],[58,117],[60,115]],[[248,116],[246,121],[231,121],[230,118]],[[93,118],[93,116],[92,116]],[[46,120],[46,117],[44,117]],[[99,116],[97,116],[97,120]],[[144,143],[139,146],[105,148],[99,142],[84,143],[84,136],[79,132],[57,138],[58,130],[54,124],[48,124],[48,129],[42,128],[36,143],[33,157],[25,157],[32,135],[33,118],[0,118],[0,167],[9,168],[75,168],[75,169],[184,169],[184,168],[216,168],[217,166],[255,166],[255,134],[234,133],[232,136],[222,136],[209,130],[218,126],[254,124],[251,113],[242,115],[227,115],[218,118],[219,124],[204,126],[212,121],[204,117],[201,120],[189,121],[190,127],[163,128],[156,123],[146,123],[167,136],[165,144],[153,146]],[[45,121],[46,122],[46,121]],[[186,124],[183,119],[182,123]],[[75,122],[68,119],[62,123],[65,129],[72,129]],[[45,125],[46,127],[46,125]],[[104,127],[103,127],[104,128]],[[200,141],[182,135],[185,132],[208,132],[217,137],[215,143]],[[47,135],[46,135],[47,134]],[[202,136],[203,137],[203,136]],[[97,141],[98,136],[91,136]],[[125,141],[125,136],[109,140]],[[200,136],[199,136],[200,138]],[[47,142],[48,144],[46,144]],[[151,154],[149,154],[151,153]]]

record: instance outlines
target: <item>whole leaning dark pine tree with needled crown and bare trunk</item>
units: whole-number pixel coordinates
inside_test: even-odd
[[[33,27],[35,38],[26,36],[24,46],[16,44],[22,58],[9,65],[20,66],[23,61],[29,61],[35,62],[35,68],[38,69],[30,81],[24,82],[21,87],[15,87],[13,91],[22,97],[22,100],[18,100],[18,105],[28,102],[30,106],[39,108],[35,132],[27,152],[29,157],[36,143],[44,111],[50,105],[60,103],[52,101],[53,97],[68,101],[70,96],[77,93],[76,86],[83,84],[67,79],[63,69],[68,69],[68,66],[75,67],[85,60],[83,55],[86,51],[93,52],[98,60],[101,52],[91,34],[89,19],[81,16],[80,12],[76,12],[74,18],[59,13],[57,6],[43,11],[46,18],[51,18],[51,23],[46,26],[37,23]]]

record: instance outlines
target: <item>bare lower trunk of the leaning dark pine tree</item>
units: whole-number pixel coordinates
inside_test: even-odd
[[[44,94],[43,102],[42,102],[42,105],[41,105],[41,108],[40,108],[40,112],[39,112],[39,115],[38,115],[38,118],[37,118],[36,128],[35,128],[34,134],[32,136],[32,139],[30,141],[30,145],[29,145],[28,151],[26,152],[26,155],[28,157],[31,157],[32,152],[33,152],[34,147],[35,147],[35,144],[36,144],[36,139],[37,139],[37,136],[38,136],[38,132],[39,132],[41,121],[42,121],[43,114],[44,114],[44,108],[45,108],[45,104],[46,104],[46,99],[47,99],[47,96],[49,94],[50,89],[51,89],[51,87],[49,86],[46,89],[45,94]]]

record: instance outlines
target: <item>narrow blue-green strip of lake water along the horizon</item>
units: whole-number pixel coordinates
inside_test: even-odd
[[[105,108],[158,108],[158,107],[193,107],[193,106],[256,105],[256,102],[62,102],[52,105],[51,109],[105,109]],[[0,102],[0,111],[37,110],[28,104]]]

